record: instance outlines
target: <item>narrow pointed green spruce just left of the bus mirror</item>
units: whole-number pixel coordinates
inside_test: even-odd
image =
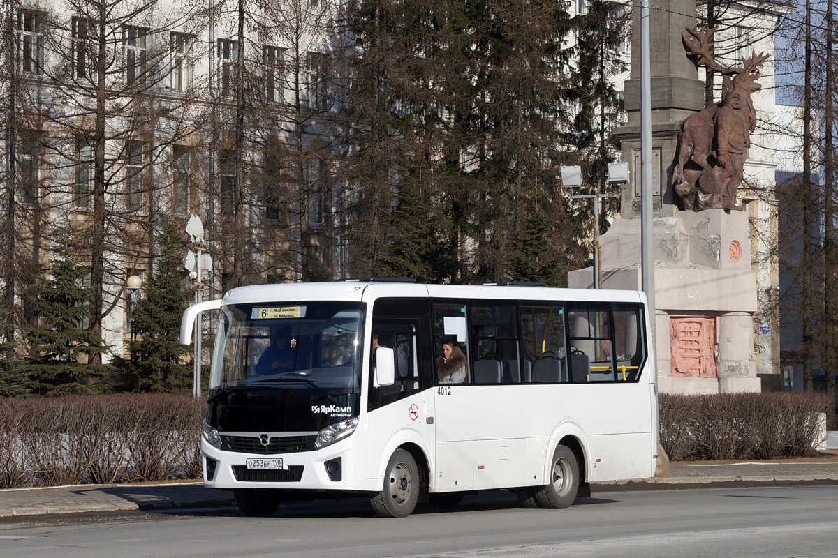
[[[128,312],[137,340],[128,344],[129,357],[116,356],[114,365],[122,372],[125,387],[131,391],[189,393],[191,350],[178,341],[180,319],[190,296],[182,286],[184,243],[171,223],[163,226],[157,243],[160,253],[156,269],[144,285],[145,298],[135,310]]]

